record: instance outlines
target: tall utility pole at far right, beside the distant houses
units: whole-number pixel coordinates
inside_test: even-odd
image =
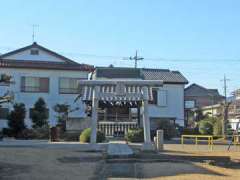
[[[223,122],[222,122],[222,135],[225,138],[226,137],[226,130],[227,130],[227,121],[228,121],[228,107],[229,103],[227,102],[227,82],[230,81],[230,79],[227,79],[226,75],[224,74],[224,78],[221,80],[223,81],[223,90],[224,90],[224,96],[225,101],[223,105]]]

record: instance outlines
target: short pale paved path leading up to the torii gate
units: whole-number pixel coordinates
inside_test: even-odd
[[[133,155],[133,150],[125,142],[109,142],[107,154],[110,156]]]

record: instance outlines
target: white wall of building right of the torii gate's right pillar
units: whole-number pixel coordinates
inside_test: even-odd
[[[159,90],[167,91],[167,106],[149,104],[150,118],[176,118],[176,123],[184,125],[184,85],[165,84]],[[158,99],[160,101],[160,99]]]

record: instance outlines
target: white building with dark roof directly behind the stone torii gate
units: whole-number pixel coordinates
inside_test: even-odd
[[[168,69],[150,68],[125,68],[125,67],[96,67],[91,78],[93,80],[108,81],[151,81],[160,80],[163,85],[150,87],[151,100],[148,105],[150,127],[152,130],[158,127],[162,120],[184,126],[184,88],[188,80],[179,72]],[[106,87],[108,88],[108,87]],[[130,88],[130,87],[129,87]],[[137,93],[138,88],[130,88],[126,91]],[[88,93],[91,101],[91,93]],[[130,102],[129,102],[130,101]],[[138,100],[116,100],[117,103],[101,101],[99,121],[106,126],[109,123],[136,122],[142,126],[141,103]]]

